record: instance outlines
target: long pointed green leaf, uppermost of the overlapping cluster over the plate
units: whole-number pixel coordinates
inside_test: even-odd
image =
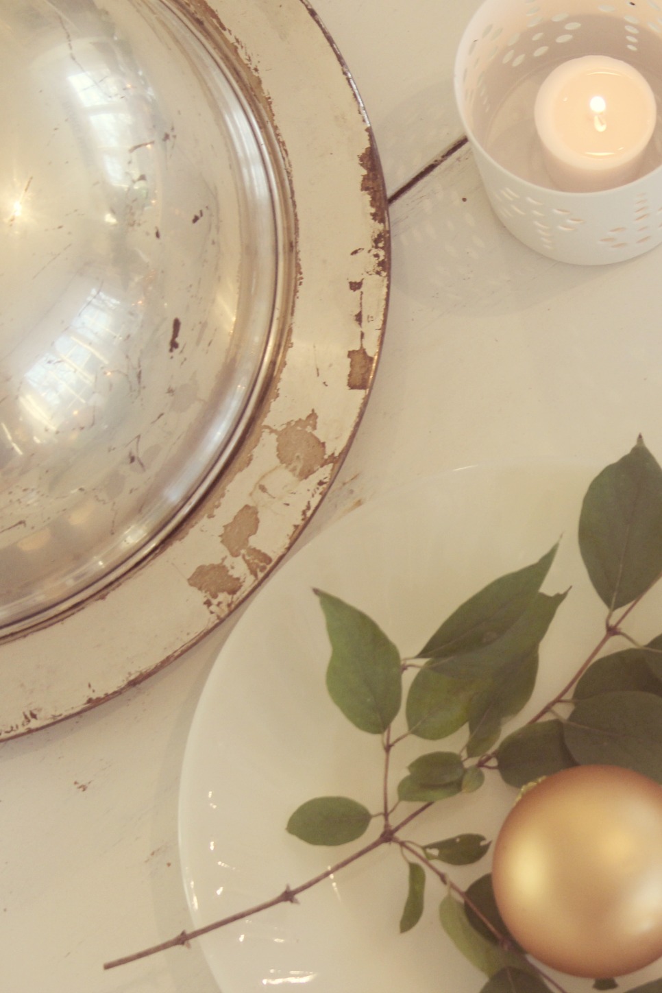
[[[443,658],[480,648],[504,635],[540,589],[558,544],[533,565],[510,572],[476,593],[429,639],[419,658]]]

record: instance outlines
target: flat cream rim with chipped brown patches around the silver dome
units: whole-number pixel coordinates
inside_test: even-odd
[[[155,4],[161,0],[155,0]],[[163,0],[223,46],[291,199],[283,334],[230,463],[150,556],[0,642],[0,739],[95,706],[223,620],[324,497],[375,371],[389,277],[386,200],[360,99],[305,0]]]

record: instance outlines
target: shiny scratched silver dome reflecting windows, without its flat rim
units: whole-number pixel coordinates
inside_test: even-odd
[[[0,630],[130,567],[274,350],[273,156],[178,0],[2,0]]]

